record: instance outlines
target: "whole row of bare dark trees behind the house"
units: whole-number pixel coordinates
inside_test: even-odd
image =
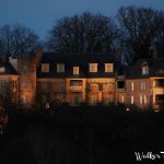
[[[85,12],[57,20],[40,44],[37,34],[22,25],[0,28],[0,54],[24,55],[43,46],[46,51],[108,52],[120,50],[128,65],[164,54],[164,11],[121,7],[115,17]]]

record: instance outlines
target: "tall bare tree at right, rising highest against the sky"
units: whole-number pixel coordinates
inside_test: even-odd
[[[164,12],[150,8],[121,7],[117,17],[127,59],[134,62],[149,57],[149,49],[161,33]]]

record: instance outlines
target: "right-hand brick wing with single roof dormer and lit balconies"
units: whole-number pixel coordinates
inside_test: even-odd
[[[164,59],[140,59],[126,80],[126,104],[159,109],[164,104]]]

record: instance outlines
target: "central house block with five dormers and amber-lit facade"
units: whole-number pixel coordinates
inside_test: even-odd
[[[116,101],[116,60],[112,54],[47,54],[37,70],[42,102],[70,105]]]

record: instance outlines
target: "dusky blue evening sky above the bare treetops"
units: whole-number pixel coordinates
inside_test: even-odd
[[[115,16],[121,5],[164,10],[164,0],[0,0],[0,26],[20,23],[44,38],[57,19],[84,11]]]

